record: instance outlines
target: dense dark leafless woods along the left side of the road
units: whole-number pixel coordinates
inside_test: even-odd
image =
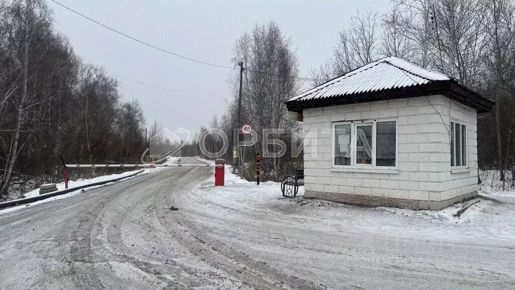
[[[145,120],[118,83],[84,65],[43,0],[0,0],[0,200],[57,181],[68,163],[136,162]]]

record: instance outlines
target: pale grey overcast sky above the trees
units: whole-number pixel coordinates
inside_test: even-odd
[[[338,30],[356,8],[386,10],[388,0],[334,1],[76,1],[56,0],[98,22],[163,49],[205,62],[231,66],[234,42],[255,23],[276,21],[291,38],[301,76],[331,56]],[[84,62],[106,71],[183,91],[229,91],[229,69],[181,59],[134,42],[63,7],[54,10],[56,29]],[[218,116],[229,95],[166,91],[119,79],[126,100],[138,99],[147,126],[157,120],[170,129],[196,131]]]

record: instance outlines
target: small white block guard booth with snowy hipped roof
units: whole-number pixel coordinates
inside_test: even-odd
[[[431,210],[470,198],[477,112],[493,104],[393,57],[308,90],[287,102],[304,137],[317,132],[304,145],[305,197]]]

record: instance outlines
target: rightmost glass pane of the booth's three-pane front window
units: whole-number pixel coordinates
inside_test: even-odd
[[[375,143],[375,166],[395,166],[395,121],[377,122]]]

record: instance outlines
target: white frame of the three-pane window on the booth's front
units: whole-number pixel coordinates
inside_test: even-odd
[[[376,153],[376,132],[377,123],[395,121],[395,166],[376,166],[375,153]],[[335,138],[336,138],[336,125],[348,125],[351,124],[351,165],[335,165]],[[353,138],[356,132],[356,127],[359,125],[372,125],[372,164],[356,164],[356,141],[357,138]],[[331,166],[332,168],[348,168],[348,169],[391,169],[397,170],[399,168],[399,121],[398,118],[390,119],[370,119],[370,120],[359,120],[359,121],[342,121],[333,122],[331,124]]]

